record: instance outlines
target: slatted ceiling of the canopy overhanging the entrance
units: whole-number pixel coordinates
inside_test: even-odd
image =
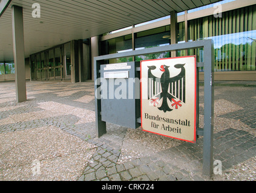
[[[25,57],[29,57],[73,39],[87,39],[167,16],[172,10],[180,12],[217,1],[13,0],[0,17],[0,61],[13,60],[11,5],[23,7]],[[39,18],[31,14],[35,2],[41,6]]]

